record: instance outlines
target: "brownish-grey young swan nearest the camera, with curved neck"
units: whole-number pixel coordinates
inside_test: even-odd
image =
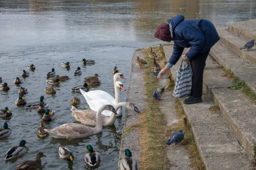
[[[96,113],[97,119],[95,128],[85,126],[84,124],[69,123],[58,126],[52,130],[44,129],[44,131],[48,132],[51,136],[53,136],[53,138],[67,139],[84,138],[86,136],[98,134],[102,131],[102,120],[100,119],[100,114],[103,110],[109,110],[117,114],[115,108],[112,105],[102,105],[102,107],[100,107]]]

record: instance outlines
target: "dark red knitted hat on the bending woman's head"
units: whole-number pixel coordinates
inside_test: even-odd
[[[158,38],[159,40],[170,42],[172,38],[170,36],[170,28],[168,23],[162,23],[156,28],[156,32],[154,37]]]

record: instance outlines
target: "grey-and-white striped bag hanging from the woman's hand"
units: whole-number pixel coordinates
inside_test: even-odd
[[[174,97],[185,97],[191,93],[192,69],[189,60],[182,60],[181,67],[177,73],[175,87],[172,95]]]

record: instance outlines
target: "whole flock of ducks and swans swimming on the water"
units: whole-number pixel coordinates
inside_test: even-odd
[[[94,60],[82,60],[83,65],[94,65]],[[69,62],[62,62],[61,67],[66,69],[70,68]],[[34,65],[28,65],[27,69],[30,71],[35,71],[36,67]],[[38,114],[42,114],[42,120],[39,123],[39,127],[36,131],[36,134],[39,138],[44,138],[46,136],[52,136],[53,138],[84,138],[86,136],[91,136],[98,134],[102,131],[102,126],[111,126],[115,124],[117,116],[121,116],[121,108],[125,107],[129,110],[134,110],[137,113],[140,113],[138,108],[134,103],[129,102],[120,102],[120,90],[125,91],[123,83],[120,79],[126,79],[122,73],[119,73],[117,67],[115,67],[111,73],[114,74],[114,88],[115,88],[115,97],[102,90],[93,90],[89,91],[89,86],[100,85],[98,75],[84,78],[84,85],[79,85],[71,88],[73,92],[81,92],[86,102],[90,106],[90,110],[77,110],[76,105],[80,104],[78,97],[73,97],[70,101],[71,103],[71,116],[75,118],[79,123],[67,123],[61,126],[57,126],[53,129],[44,127],[43,122],[51,122],[55,118],[55,111],[49,109],[49,105],[44,103],[44,96],[41,96],[38,101],[27,103],[25,96],[28,93],[28,90],[25,87],[20,87],[18,91],[19,97],[16,99],[15,104],[18,106],[24,106],[26,109],[37,109]],[[25,70],[22,71],[22,77],[29,77],[29,73]],[[77,70],[73,73],[74,76],[82,75],[80,67],[77,67]],[[60,82],[67,81],[69,77],[56,75],[55,69],[53,68],[51,72],[47,73],[46,82],[51,85],[51,87],[46,87],[44,89],[47,94],[55,94],[55,86],[58,86]],[[0,77],[0,83],[2,83],[2,77]],[[13,82],[15,85],[20,85],[23,82],[19,77],[15,78]],[[6,82],[0,84],[0,90],[9,91],[9,86]],[[5,107],[0,110],[1,118],[11,117],[12,113],[9,108]],[[7,122],[4,122],[3,127],[0,128],[0,139],[4,140],[11,134],[11,129],[8,127]],[[26,140],[20,140],[18,146],[13,146],[9,148],[5,154],[5,161],[8,161],[13,158],[18,158],[24,155],[28,151],[26,145]],[[88,153],[84,157],[86,164],[90,166],[95,166],[100,163],[102,160],[102,155],[97,151],[94,151],[93,147],[88,144],[86,146]],[[125,167],[138,167],[137,160],[131,158],[131,151],[129,149],[125,150],[125,159],[121,160],[121,169],[126,169]],[[16,169],[37,169],[41,167],[41,158],[46,157],[43,153],[38,153],[34,161],[25,161],[24,163],[18,165]],[[64,146],[59,147],[59,157],[67,161],[73,161],[74,157],[69,148]]]

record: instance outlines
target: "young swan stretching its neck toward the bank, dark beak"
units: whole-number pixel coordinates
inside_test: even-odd
[[[133,103],[129,103],[129,102],[117,103],[117,105],[115,106],[115,110],[118,110],[121,107],[125,107],[129,110],[134,110],[135,112],[140,113],[138,108]],[[72,111],[71,115],[78,122],[81,122],[82,124],[86,124],[86,125],[91,125],[91,126],[96,125],[96,114],[95,114],[96,112],[92,110],[77,110],[77,108],[73,107],[73,105],[71,105],[71,111]],[[102,126],[110,126],[115,124],[116,114],[112,113],[110,117],[102,115],[100,118],[102,119]]]

